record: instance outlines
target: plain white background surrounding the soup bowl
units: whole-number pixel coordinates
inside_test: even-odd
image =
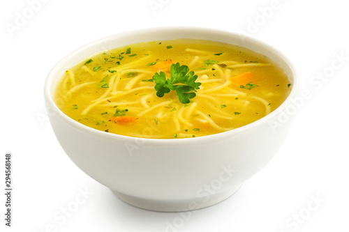
[[[344,2],[1,1],[0,193],[4,156],[11,152],[13,221],[5,226],[0,194],[0,231],[348,231],[349,14]],[[73,49],[156,26],[203,26],[263,40],[288,56],[302,79],[301,92],[311,93],[265,169],[222,203],[181,215],[129,206],[82,173],[54,137],[43,100],[47,73]],[[78,208],[65,216],[64,208],[73,206]]]

